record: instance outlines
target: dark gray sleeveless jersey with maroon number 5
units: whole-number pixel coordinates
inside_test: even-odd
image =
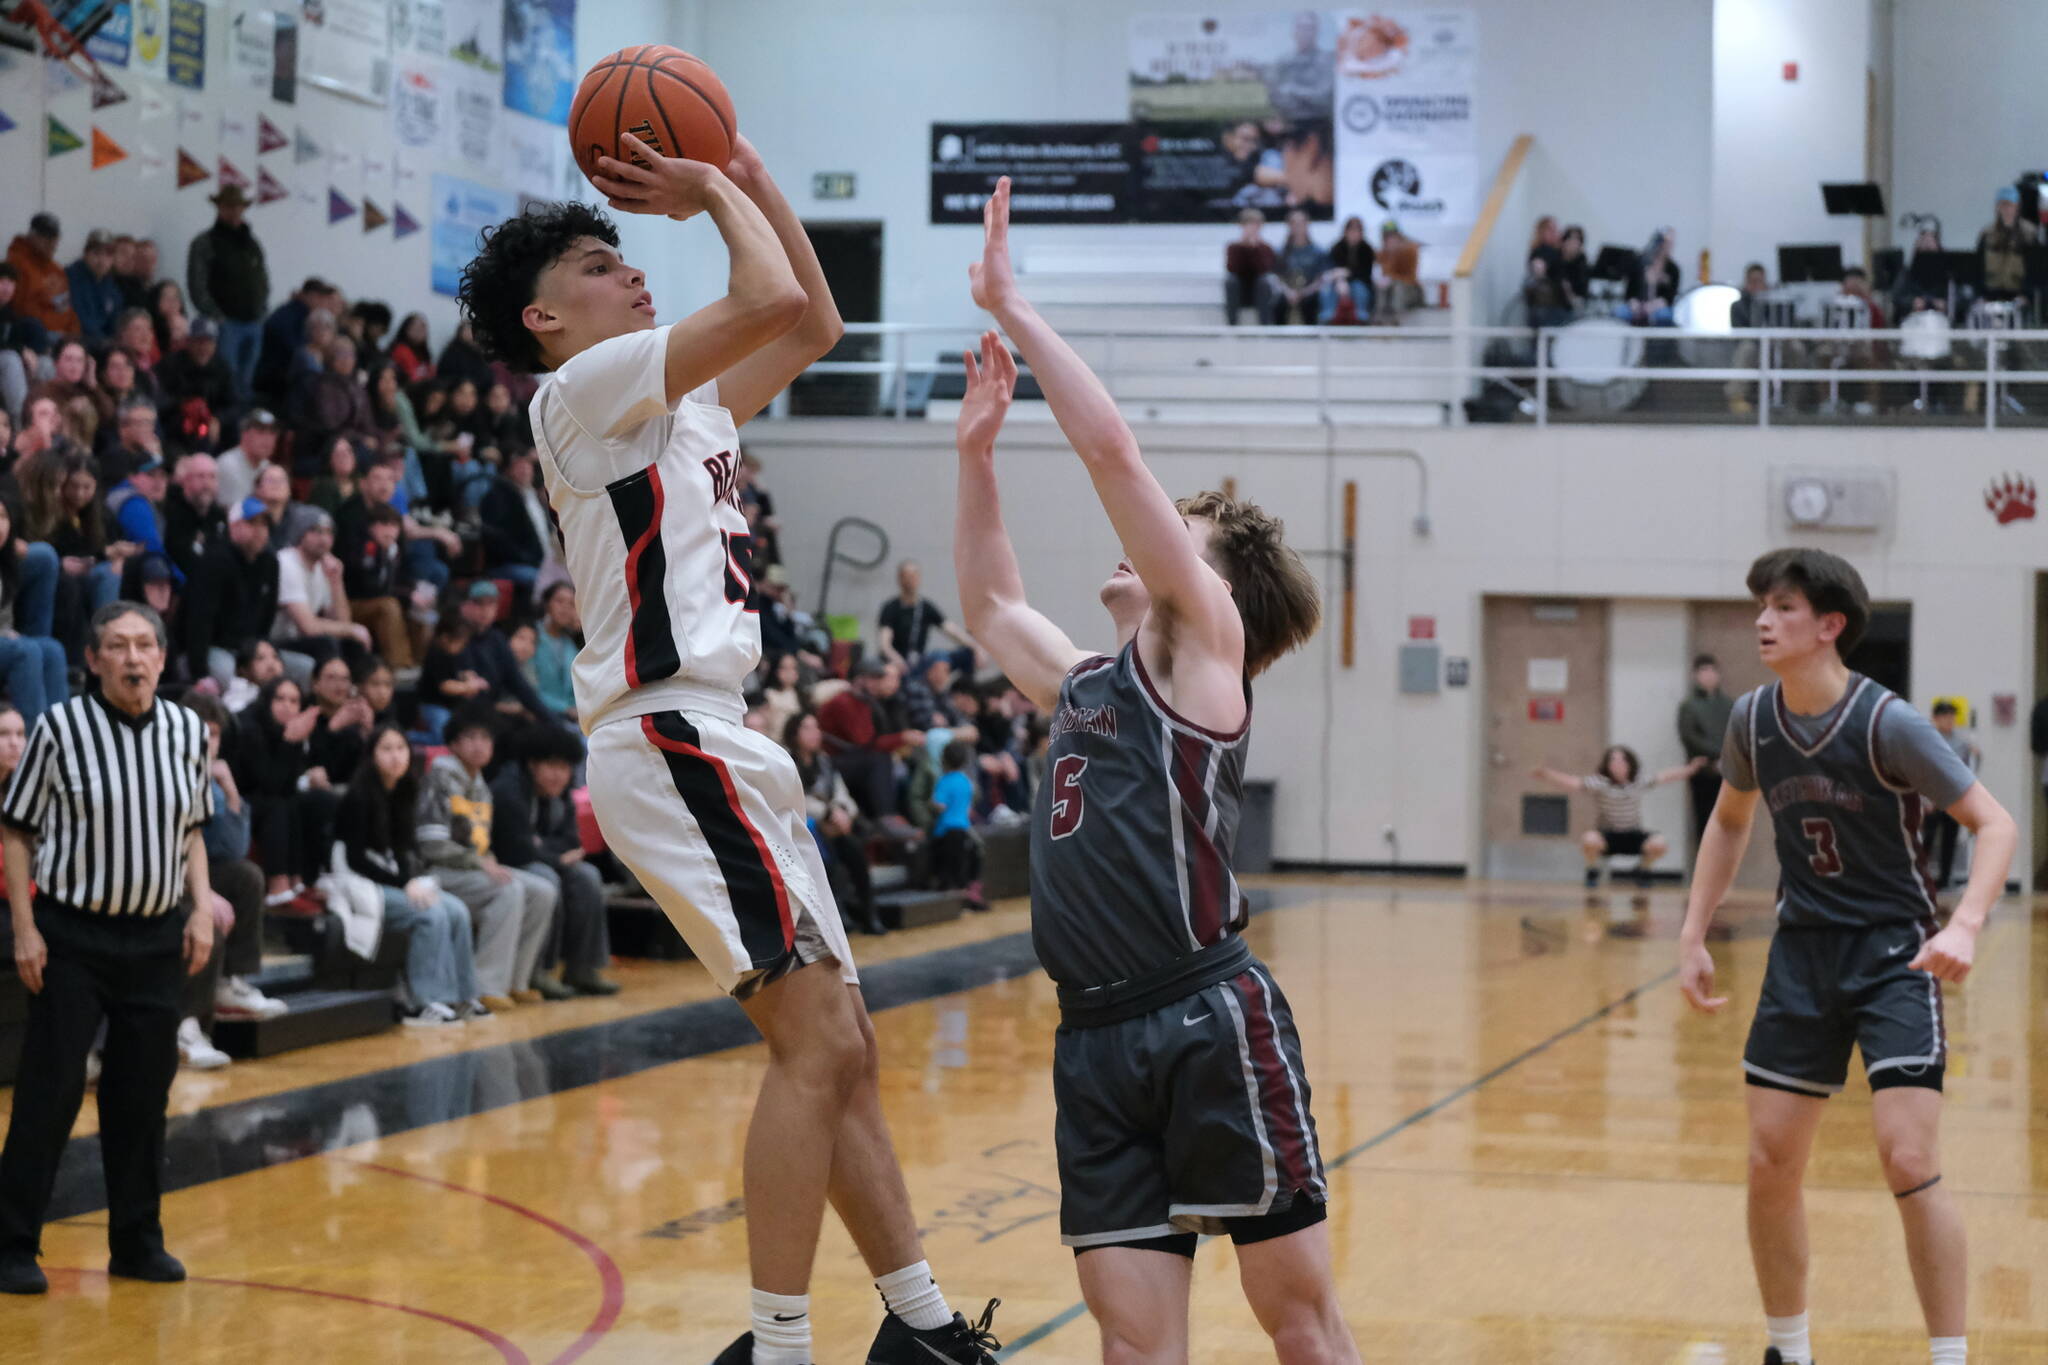
[[[1249,739],[1249,696],[1235,735],[1182,720],[1135,641],[1067,673],[1030,855],[1032,945],[1059,986],[1137,980],[1243,929],[1231,845]]]

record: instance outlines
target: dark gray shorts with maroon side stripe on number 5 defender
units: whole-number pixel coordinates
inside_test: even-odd
[[[1262,966],[1053,1044],[1059,1240],[1280,1236],[1329,1199],[1286,997]],[[1182,1246],[1161,1246],[1182,1250]]]

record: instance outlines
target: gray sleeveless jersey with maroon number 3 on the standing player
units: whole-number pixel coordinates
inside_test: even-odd
[[[1782,925],[1935,921],[1921,847],[1925,806],[1905,778],[1884,772],[1878,753],[1878,718],[1888,706],[1905,702],[1851,673],[1833,722],[1802,743],[1780,684],[1747,698],[1751,772],[1778,833]]]

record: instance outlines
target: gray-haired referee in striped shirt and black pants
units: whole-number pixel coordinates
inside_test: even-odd
[[[211,812],[207,729],[156,700],[164,620],[111,602],[92,614],[98,686],[49,708],[0,798],[14,968],[29,1025],[14,1119],[0,1150],[0,1291],[43,1293],[37,1267],[57,1160],[106,1021],[100,1160],[106,1271],[176,1281],[164,1250],[164,1105],[178,1072],[178,986],[213,954],[201,823]],[[31,892],[31,876],[35,890]],[[201,911],[188,915],[197,905]]]

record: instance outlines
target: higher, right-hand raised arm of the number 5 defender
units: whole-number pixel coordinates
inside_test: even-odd
[[[1153,606],[1169,614],[1176,632],[1196,630],[1217,653],[1241,653],[1243,620],[1231,604],[1231,589],[1202,561],[1174,499],[1145,467],[1137,436],[1116,411],[1116,399],[1018,291],[1010,268],[1008,176],[997,180],[995,194],[983,207],[981,262],[969,274],[975,303],[993,313],[1024,352],[1059,430],[1087,467],[1130,567],[1145,579]]]

